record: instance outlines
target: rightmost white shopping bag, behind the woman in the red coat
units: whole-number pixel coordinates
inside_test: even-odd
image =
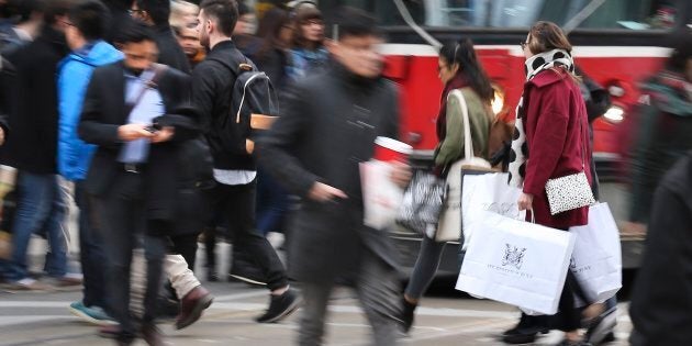
[[[603,302],[623,287],[620,232],[607,203],[589,208],[589,224],[571,227],[577,236],[570,270],[588,303]]]

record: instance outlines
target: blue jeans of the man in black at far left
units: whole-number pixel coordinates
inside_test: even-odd
[[[26,249],[32,234],[45,232],[51,250],[46,255],[46,272],[55,278],[67,272],[67,242],[63,233],[66,205],[56,175],[35,175],[19,171],[14,225],[12,226],[12,260],[7,278],[10,281],[25,279]]]

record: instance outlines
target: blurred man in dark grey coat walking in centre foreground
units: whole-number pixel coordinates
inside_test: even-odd
[[[299,345],[322,345],[335,280],[356,282],[373,330],[373,345],[395,345],[401,323],[398,261],[386,230],[364,225],[359,163],[372,158],[378,136],[399,136],[399,100],[380,77],[382,42],[375,20],[354,9],[338,11],[339,40],[330,42],[331,66],[297,82],[281,118],[260,138],[259,161],[302,202],[289,245],[291,278],[305,300]],[[405,185],[410,168],[394,166]]]

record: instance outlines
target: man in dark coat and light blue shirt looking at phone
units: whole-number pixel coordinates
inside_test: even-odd
[[[196,135],[194,113],[171,115],[190,100],[190,79],[156,65],[153,32],[132,23],[122,36],[123,62],[94,70],[79,123],[79,136],[98,146],[86,179],[96,198],[109,258],[112,316],[120,323],[118,341],[130,345],[135,325],[130,306],[132,250],[144,239],[147,284],[142,334],[160,345],[155,326],[156,298],[166,237],[174,230],[178,199],[179,146]],[[166,115],[164,115],[166,114]],[[180,125],[186,120],[190,125]]]

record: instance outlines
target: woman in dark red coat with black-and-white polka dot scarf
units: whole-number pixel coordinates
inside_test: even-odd
[[[516,110],[510,183],[524,191],[520,210],[531,210],[536,223],[569,230],[585,225],[589,208],[550,214],[548,179],[585,172],[591,181],[588,116],[571,58],[572,46],[554,23],[537,22],[522,43],[526,82]],[[566,332],[559,345],[584,345],[578,333],[581,316],[574,306],[577,282],[568,271],[560,297],[557,328]],[[521,323],[520,323],[521,325]]]

